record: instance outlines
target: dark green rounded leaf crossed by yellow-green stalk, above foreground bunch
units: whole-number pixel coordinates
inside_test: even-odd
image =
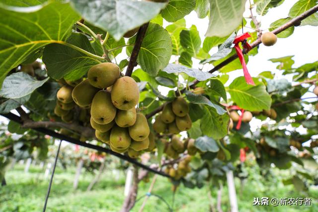
[[[80,33],[72,33],[67,43],[73,44],[87,52],[95,53],[87,37]],[[62,44],[49,44],[43,53],[43,62],[48,70],[48,75],[54,79],[65,76],[68,80],[76,80],[82,77],[94,65],[100,61]]]

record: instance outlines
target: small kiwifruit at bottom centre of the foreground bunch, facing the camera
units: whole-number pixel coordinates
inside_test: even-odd
[[[127,128],[114,126],[110,132],[110,143],[116,149],[126,149],[131,143]]]

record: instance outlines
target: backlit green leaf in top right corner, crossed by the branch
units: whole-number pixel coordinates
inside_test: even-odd
[[[297,1],[292,8],[289,10],[289,17],[295,18],[296,16],[304,13],[305,11],[309,10],[310,8],[316,6],[317,0],[299,0]],[[315,12],[314,14],[310,15],[309,17],[302,20],[301,25],[312,25],[318,26],[318,14]]]

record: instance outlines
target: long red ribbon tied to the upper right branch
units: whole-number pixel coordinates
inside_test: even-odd
[[[235,37],[233,43],[235,44],[234,48],[235,48],[235,51],[238,54],[239,61],[242,64],[243,73],[244,73],[244,77],[245,77],[246,83],[250,84],[250,85],[255,85],[252,77],[248,73],[248,70],[247,70],[247,67],[246,67],[246,63],[245,63],[245,60],[244,60],[244,56],[243,56],[243,52],[239,48],[239,43],[241,42],[242,46],[243,46],[243,49],[246,49],[247,51],[252,49],[251,46],[247,43],[247,40],[246,40],[249,37],[250,37],[250,34],[248,34],[248,32],[246,32],[244,34],[241,34],[241,35]]]

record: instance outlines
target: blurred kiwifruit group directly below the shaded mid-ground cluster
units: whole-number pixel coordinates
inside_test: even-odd
[[[179,154],[183,153],[185,150],[187,150],[189,155],[195,155],[198,151],[194,145],[194,139],[185,139],[184,141],[181,141],[177,135],[173,135],[170,142],[163,139],[161,139],[161,141],[165,143],[164,152],[168,157],[173,159],[178,158]]]

